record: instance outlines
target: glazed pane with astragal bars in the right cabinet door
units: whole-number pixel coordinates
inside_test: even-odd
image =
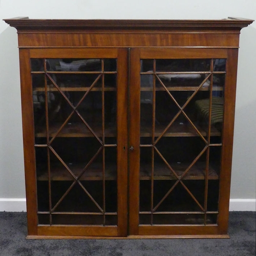
[[[140,59],[139,225],[218,222],[225,59]]]

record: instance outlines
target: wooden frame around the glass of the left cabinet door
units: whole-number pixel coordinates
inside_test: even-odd
[[[28,237],[127,236],[127,49],[19,49]],[[31,58],[117,58],[117,226],[38,225]]]

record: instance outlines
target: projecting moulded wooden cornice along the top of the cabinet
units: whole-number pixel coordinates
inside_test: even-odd
[[[11,27],[17,30],[51,30],[51,29],[100,29],[100,30],[152,30],[152,29],[242,29],[253,22],[252,19],[29,19],[17,17],[4,19]]]

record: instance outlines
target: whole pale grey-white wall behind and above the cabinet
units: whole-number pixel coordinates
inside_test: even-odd
[[[233,16],[256,19],[256,1],[0,0],[0,211],[15,208],[8,208],[3,202],[12,199],[18,205],[25,198],[17,35],[14,28],[2,21],[17,16],[74,19],[219,19]],[[255,199],[256,22],[241,31],[238,64],[231,199],[246,202],[240,199]],[[255,200],[249,202],[252,207],[249,208],[255,209]]]

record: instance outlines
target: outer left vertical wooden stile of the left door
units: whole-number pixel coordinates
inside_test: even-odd
[[[19,50],[20,86],[22,94],[23,143],[27,195],[28,234],[37,234],[36,177],[34,152],[34,126],[32,81],[30,75],[29,50]]]

